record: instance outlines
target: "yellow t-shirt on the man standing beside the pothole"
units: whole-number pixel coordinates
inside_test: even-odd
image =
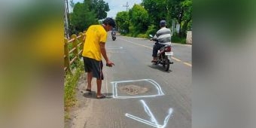
[[[99,42],[107,41],[107,32],[102,25],[93,25],[85,33],[84,50],[82,55],[98,61],[102,60]]]

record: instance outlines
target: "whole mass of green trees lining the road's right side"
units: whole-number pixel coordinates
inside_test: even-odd
[[[168,28],[172,27],[172,20],[180,24],[180,34],[175,35],[174,41],[185,42],[187,30],[192,29],[192,0],[142,0],[142,5],[134,5],[116,17],[120,33],[133,37],[154,35],[160,29],[160,20],[166,20]]]

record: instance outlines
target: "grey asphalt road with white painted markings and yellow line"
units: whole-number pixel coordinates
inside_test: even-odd
[[[86,128],[190,128],[191,45],[172,44],[174,62],[169,72],[151,64],[154,42],[108,35],[106,50],[115,66],[104,66],[102,93],[95,99],[78,93],[78,110],[71,127]],[[105,60],[103,60],[105,64]],[[96,90],[93,79],[93,90]],[[82,79],[78,90],[86,85]]]

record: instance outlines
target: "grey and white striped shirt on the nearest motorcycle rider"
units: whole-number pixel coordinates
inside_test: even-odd
[[[157,38],[160,44],[171,44],[171,30],[163,27],[157,31],[157,34],[154,35],[154,38]]]

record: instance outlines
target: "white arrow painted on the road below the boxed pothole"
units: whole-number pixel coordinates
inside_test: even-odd
[[[148,114],[149,117],[151,117],[151,121],[148,121],[148,120],[144,120],[140,117],[136,117],[136,116],[133,116],[132,114],[125,114],[126,117],[130,117],[132,118],[133,120],[137,120],[139,122],[142,122],[142,123],[145,123],[145,124],[148,124],[150,126],[154,126],[154,127],[157,127],[157,128],[164,128],[166,127],[168,121],[169,121],[169,117],[172,115],[172,111],[173,109],[172,108],[169,108],[169,111],[168,111],[168,115],[166,116],[166,118],[164,119],[163,121],[163,125],[160,125],[157,120],[156,120],[156,117],[154,117],[154,114],[152,114],[151,110],[148,108],[148,105],[145,103],[144,100],[140,100],[140,102],[142,102],[142,105],[146,111],[146,113]]]

